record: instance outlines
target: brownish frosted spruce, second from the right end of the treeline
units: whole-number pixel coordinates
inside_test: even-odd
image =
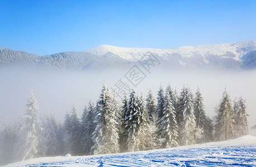
[[[217,110],[215,124],[216,141],[227,140],[234,137],[235,134],[234,109],[227,90],[223,92],[219,109]]]

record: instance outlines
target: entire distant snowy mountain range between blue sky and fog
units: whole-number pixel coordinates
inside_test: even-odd
[[[158,68],[164,70],[256,68],[256,40],[217,45],[182,46],[173,49],[100,45],[83,52],[61,52],[45,56],[1,48],[0,67],[22,66],[61,70],[131,68],[146,53],[154,55],[160,62]]]

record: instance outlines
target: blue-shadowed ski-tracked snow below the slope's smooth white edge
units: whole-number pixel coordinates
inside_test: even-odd
[[[155,150],[25,166],[256,166],[256,146]]]

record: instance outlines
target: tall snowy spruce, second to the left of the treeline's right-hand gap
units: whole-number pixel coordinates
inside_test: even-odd
[[[180,98],[179,112],[182,115],[182,120],[179,123],[179,142],[180,145],[195,144],[196,122],[193,114],[193,96],[188,87],[183,87],[183,92]]]

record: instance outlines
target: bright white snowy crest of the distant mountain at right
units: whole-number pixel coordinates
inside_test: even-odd
[[[129,47],[117,47],[110,45],[100,45],[90,48],[86,52],[93,53],[98,56],[106,56],[109,53],[120,56],[125,60],[138,61],[147,52],[156,54],[164,59],[168,59],[168,55],[174,53],[181,55],[182,57],[195,57],[201,55],[205,62],[206,56],[217,55],[221,57],[231,57],[235,60],[240,60],[241,57],[249,52],[256,51],[256,40],[241,41],[235,43],[224,43],[217,45],[201,45],[201,46],[182,46],[173,49],[157,49],[157,48],[129,48]]]

